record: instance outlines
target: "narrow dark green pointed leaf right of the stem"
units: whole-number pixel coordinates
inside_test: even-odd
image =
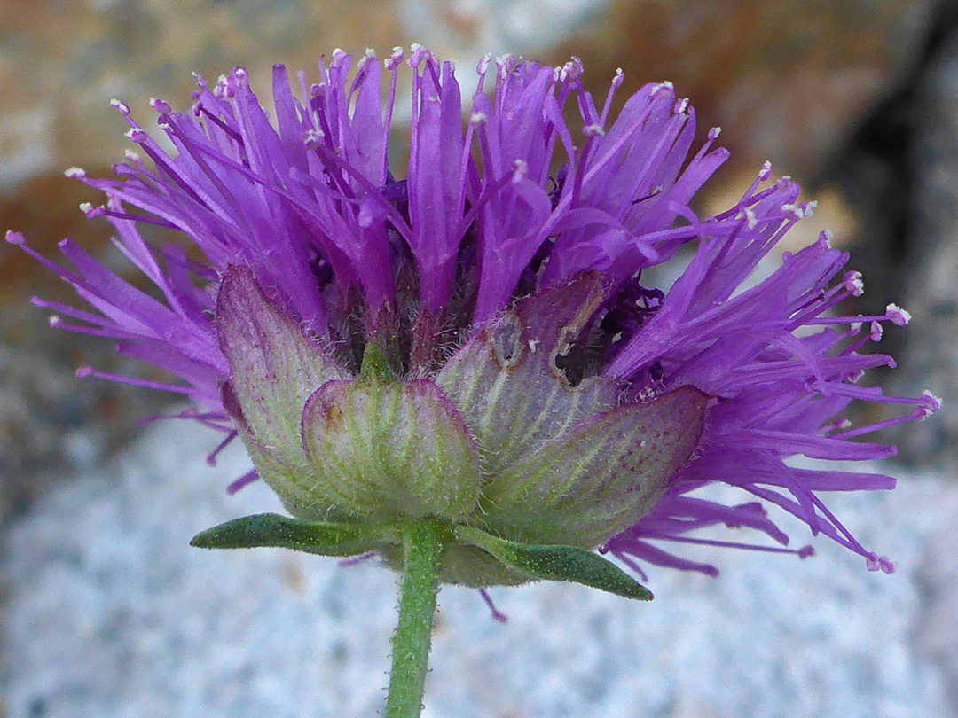
[[[464,544],[489,552],[515,571],[550,581],[572,581],[610,594],[649,601],[651,592],[613,563],[574,546],[516,544],[472,527],[456,527]]]

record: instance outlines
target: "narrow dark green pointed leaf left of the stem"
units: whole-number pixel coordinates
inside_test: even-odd
[[[323,556],[354,556],[399,544],[392,527],[368,524],[309,523],[275,513],[261,513],[227,521],[197,533],[191,546],[199,549],[255,549],[269,547],[318,553]]]

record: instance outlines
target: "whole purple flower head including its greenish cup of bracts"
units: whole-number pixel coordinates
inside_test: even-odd
[[[403,72],[404,166],[389,152]],[[731,546],[810,553],[784,548],[765,510],[776,505],[891,571],[819,494],[894,480],[791,458],[891,457],[860,437],[939,400],[859,384],[894,366],[859,351],[909,317],[894,304],[843,314],[863,284],[842,274],[848,257],[828,236],[748,283],[810,213],[795,183],[766,165],[734,207],[697,215],[696,191],[727,157],[713,148],[718,128],[695,149],[695,111],[670,83],[645,86],[613,118],[621,72],[600,107],[578,59],[483,58],[465,116],[452,63],[418,46],[383,66],[372,51],[354,66],[337,50],[317,83],[297,77],[294,91],[274,67],[271,108],[241,68],[213,86],[197,76],[190,113],[152,101],[171,151],[115,101],[138,151],[115,179],[68,170],[105,193],[84,212],[107,217],[155,291],[70,240],[64,269],[8,235],[89,305],[34,299],[56,312],[51,325],[111,338],[177,381],[78,375],[186,394],[195,408],[181,416],[249,450],[256,469],[232,488],[261,476],[309,519],[439,516],[599,548],[638,572],[636,560],[715,573],[678,547],[725,543],[697,537],[704,527],[779,545]],[[148,244],[145,225],[199,255]],[[691,259],[671,287],[647,282],[683,247]],[[842,413],[853,401],[901,412],[852,427]],[[717,482],[742,502],[699,495]],[[463,550],[448,575],[518,580],[484,560]]]

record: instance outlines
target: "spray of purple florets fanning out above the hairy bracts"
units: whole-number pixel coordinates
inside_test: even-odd
[[[390,166],[390,127],[403,65],[412,103],[406,167]],[[584,272],[603,277],[602,305],[571,338],[569,376],[614,379],[630,401],[695,387],[712,397],[691,458],[669,480],[650,513],[615,536],[607,550],[641,572],[640,560],[715,573],[672,552],[681,543],[787,550],[787,536],[766,515],[777,505],[864,556],[871,570],[892,564],[864,549],[819,492],[888,489],[894,479],[788,461],[880,460],[895,449],[857,440],[880,428],[922,419],[940,402],[885,396],[857,384],[862,372],[894,366],[859,353],[881,337],[882,323],[904,325],[889,304],[872,317],[841,315],[863,291],[860,275],[842,274],[848,256],[823,235],[785,254],[781,267],[747,281],[787,230],[810,212],[799,187],[769,182],[766,165],[726,212],[699,217],[696,192],[727,158],[713,148],[718,128],[693,152],[696,115],[670,83],[649,84],[614,119],[621,86],[612,81],[602,107],[582,87],[578,59],[552,68],[505,56],[478,65],[471,110],[450,62],[422,47],[397,50],[383,68],[370,51],[356,63],[335,51],[319,64],[319,82],[273,69],[271,110],[237,68],[214,86],[196,77],[192,113],[151,101],[173,146],[155,142],[122,102],[128,137],[151,167],[129,152],[116,179],[68,176],[103,191],[114,243],[146,276],[146,292],[106,269],[70,240],[67,270],[39,256],[22,236],[8,241],[74,285],[91,307],[34,299],[56,312],[51,325],[117,341],[121,353],[160,367],[180,383],[95,375],[189,396],[191,418],[236,436],[221,388],[230,366],[215,323],[219,281],[248,267],[268,300],[309,335],[338,352],[355,372],[367,342],[397,347],[394,369],[406,378],[435,375],[451,352],[528,294]],[[494,79],[492,76],[494,75]],[[570,110],[579,119],[566,120]],[[272,114],[272,119],[270,118]],[[188,237],[203,260],[179,245],[150,246],[139,227]],[[643,270],[690,246],[691,261],[671,288],[643,283]],[[535,348],[533,348],[535,351]],[[905,414],[852,428],[842,413],[853,401],[901,404]],[[211,455],[211,460],[216,452]],[[253,481],[255,472],[232,486]],[[696,495],[715,482],[758,501],[721,505]],[[701,528],[747,527],[778,546],[703,539]]]

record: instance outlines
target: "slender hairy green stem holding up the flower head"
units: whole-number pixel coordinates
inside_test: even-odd
[[[419,718],[422,711],[439,572],[452,536],[445,525],[425,520],[410,523],[403,529],[402,538],[405,565],[385,718]]]

